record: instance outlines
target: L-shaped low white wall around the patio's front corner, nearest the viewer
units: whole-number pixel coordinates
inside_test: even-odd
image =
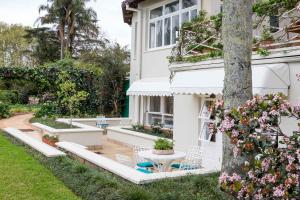
[[[101,167],[102,169],[110,171],[135,184],[145,184],[145,183],[150,183],[165,178],[175,178],[175,177],[186,176],[191,174],[205,174],[205,173],[215,172],[215,171],[210,171],[205,169],[197,169],[197,170],[184,170],[184,171],[145,174],[135,170],[134,168],[118,163],[112,159],[106,158],[102,155],[86,150],[78,145],[74,145],[74,143],[58,142],[56,143],[56,145],[64,149],[65,151],[80,157],[83,160],[86,160],[98,167]]]

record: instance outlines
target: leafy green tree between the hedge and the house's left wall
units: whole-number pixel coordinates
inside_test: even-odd
[[[101,113],[112,116],[121,114],[126,97],[123,86],[129,72],[129,58],[127,48],[117,43],[108,43],[105,48],[80,57],[81,62],[101,69],[99,82]]]

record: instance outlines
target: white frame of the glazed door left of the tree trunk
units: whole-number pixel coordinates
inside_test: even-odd
[[[204,116],[204,111],[205,109],[207,108],[205,105],[206,105],[206,102],[215,102],[216,99],[215,98],[203,98],[201,99],[202,100],[202,104],[201,104],[201,108],[200,108],[200,112],[199,112],[199,115],[198,115],[198,120],[199,120],[199,124],[200,124],[200,127],[199,127],[199,141],[207,141],[207,142],[215,142],[215,141],[212,141],[212,136],[213,134],[210,134],[208,138],[206,138],[206,135],[204,135],[204,130],[205,130],[205,127],[208,126],[209,123],[214,123],[215,120],[211,120],[211,113],[208,114],[208,116]],[[206,110],[207,112],[207,110]]]

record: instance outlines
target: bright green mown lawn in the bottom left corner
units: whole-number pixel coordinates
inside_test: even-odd
[[[79,199],[21,146],[0,133],[0,199]]]

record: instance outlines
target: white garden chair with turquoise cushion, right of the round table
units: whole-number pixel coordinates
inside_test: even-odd
[[[177,170],[193,170],[202,167],[202,151],[200,146],[191,147],[186,157],[180,163],[174,163],[171,165],[173,169]]]

